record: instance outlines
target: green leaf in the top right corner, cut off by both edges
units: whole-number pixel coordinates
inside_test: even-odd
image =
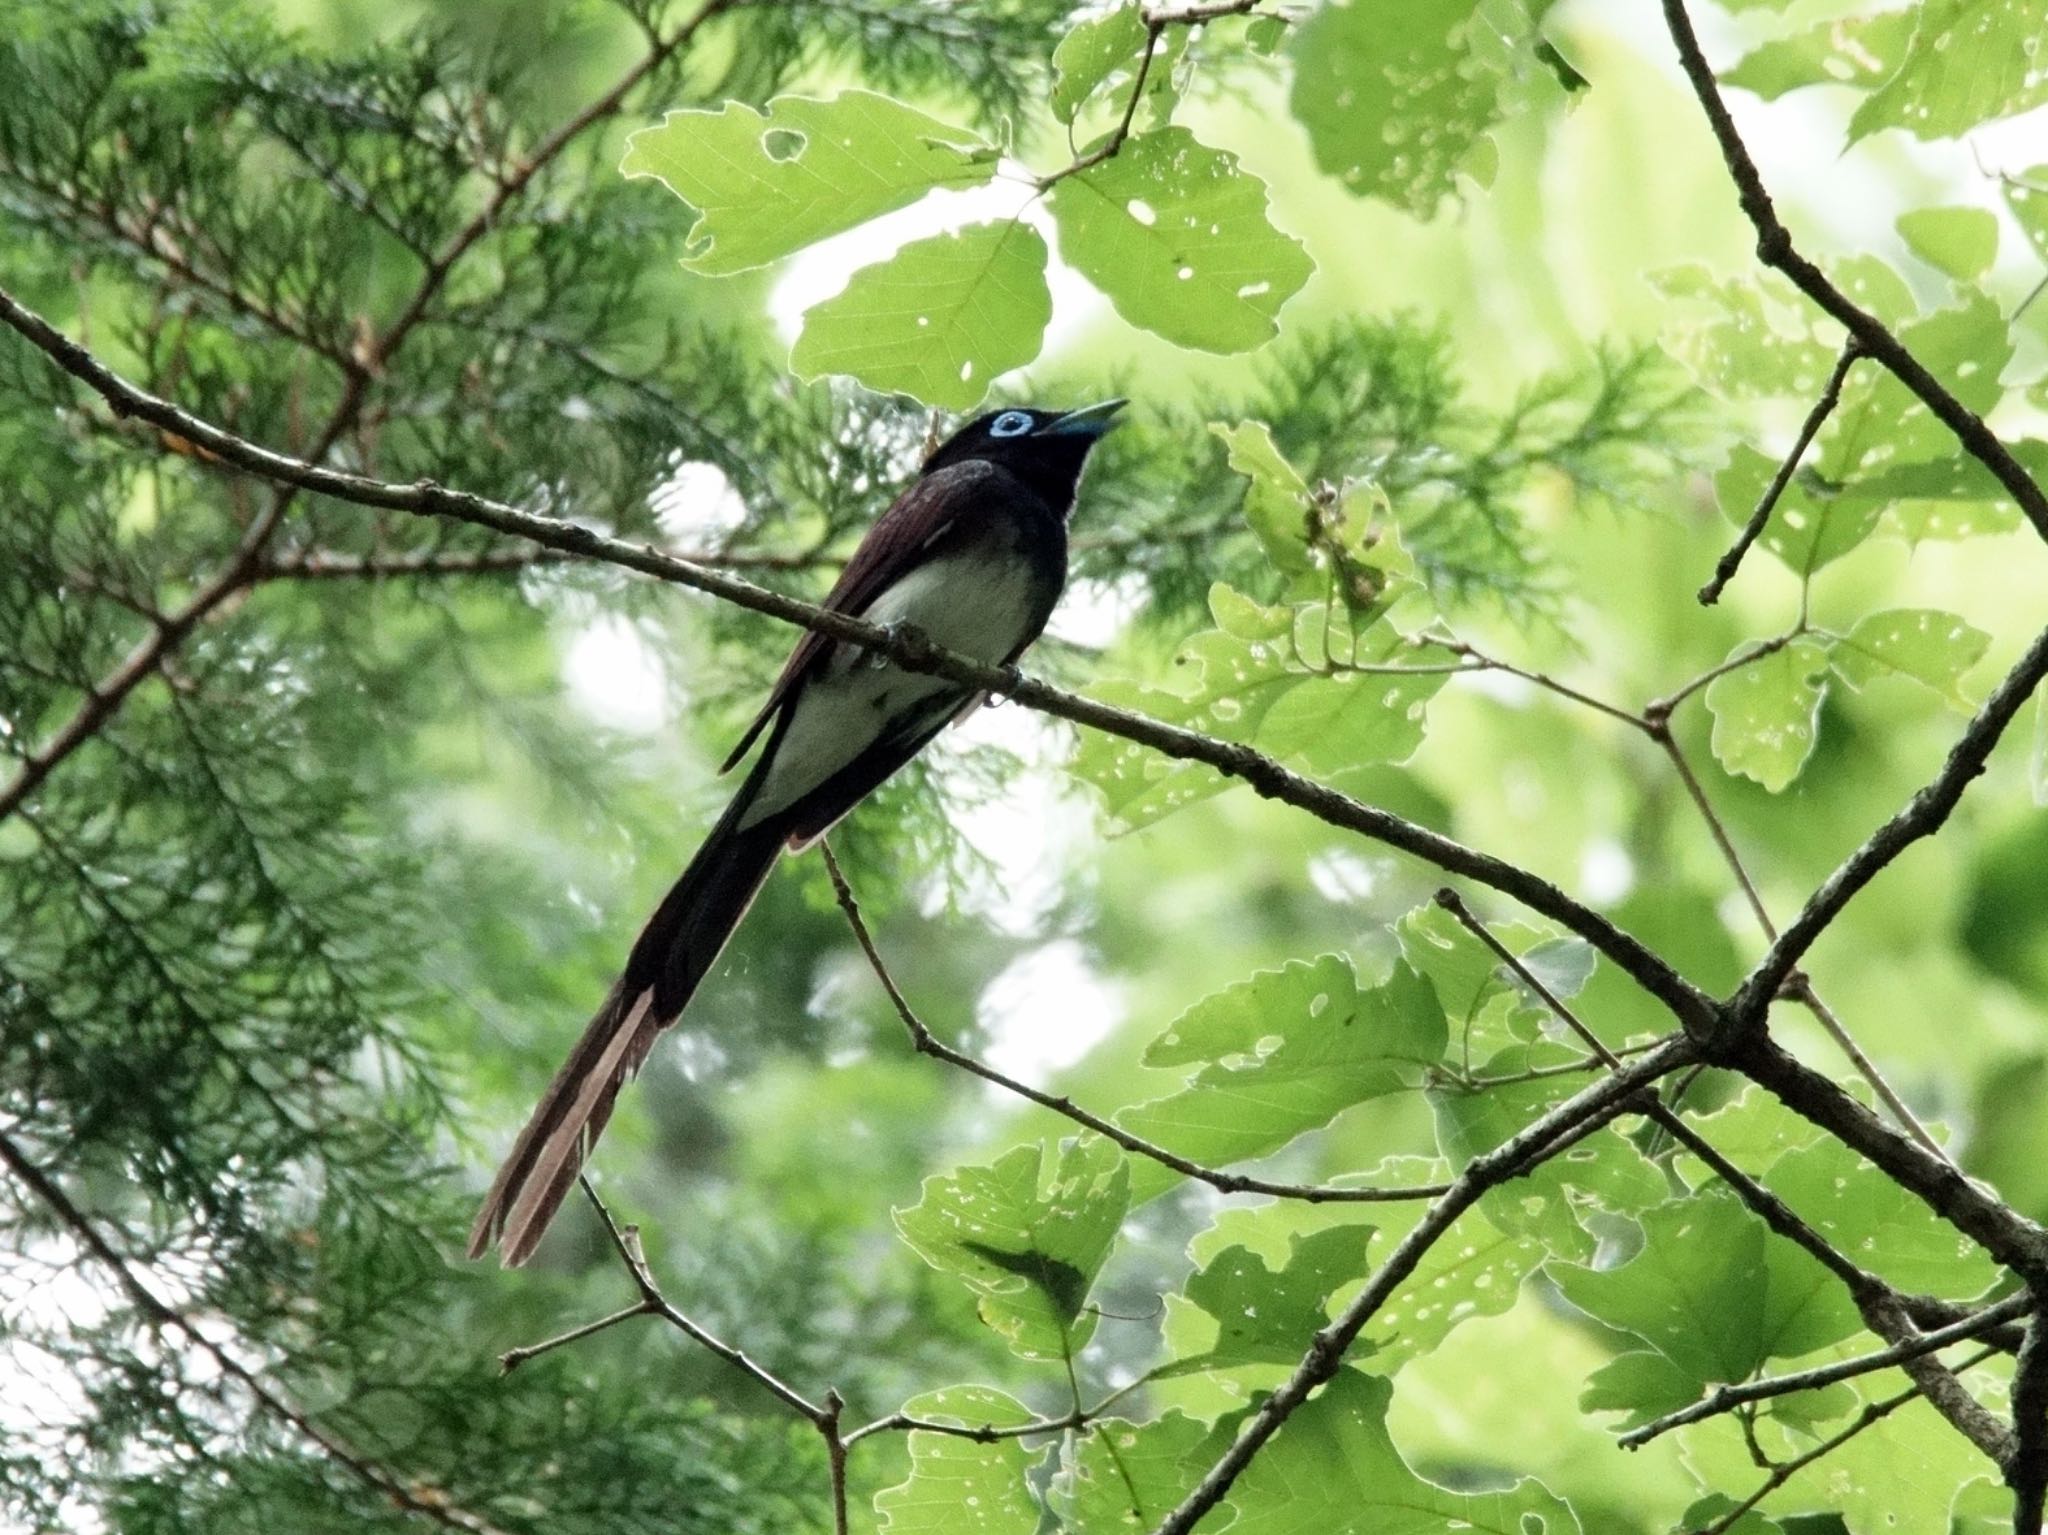
[[[2048,0],[1921,0],[1905,57],[1849,119],[1849,143],[1888,127],[1954,139],[2048,102]]]

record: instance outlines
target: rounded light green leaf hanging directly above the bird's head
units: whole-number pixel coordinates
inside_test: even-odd
[[[1044,262],[1044,239],[1014,219],[913,239],[807,309],[788,364],[971,409],[997,375],[1038,356],[1053,319]]]

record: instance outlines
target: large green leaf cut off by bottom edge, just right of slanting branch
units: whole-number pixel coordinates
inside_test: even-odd
[[[1339,1369],[1237,1478],[1231,1535],[1577,1535],[1540,1482],[1452,1492],[1419,1478],[1386,1433],[1393,1394],[1384,1375]]]

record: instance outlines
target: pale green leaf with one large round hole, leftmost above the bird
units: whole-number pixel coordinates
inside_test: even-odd
[[[618,170],[653,176],[696,209],[682,264],[725,274],[766,266],[825,235],[915,203],[934,186],[979,186],[995,145],[870,90],[776,96],[758,113],[670,113],[627,139]]]

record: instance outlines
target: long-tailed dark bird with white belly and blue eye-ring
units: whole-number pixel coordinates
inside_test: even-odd
[[[1012,665],[1067,583],[1067,520],[1090,450],[1124,399],[987,411],[924,461],[854,549],[823,606]],[[762,741],[725,813],[627,954],[625,968],[483,1195],[469,1257],[532,1257],[618,1091],[711,972],[784,851],[825,835],[983,694],[805,630],[723,772]]]

